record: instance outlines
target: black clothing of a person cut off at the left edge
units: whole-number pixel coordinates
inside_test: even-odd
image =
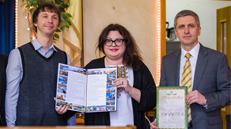
[[[6,125],[5,95],[6,95],[6,65],[7,56],[0,54],[0,125]]]

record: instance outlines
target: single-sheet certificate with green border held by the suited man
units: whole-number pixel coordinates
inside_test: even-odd
[[[187,129],[186,86],[157,87],[156,124],[160,129]]]

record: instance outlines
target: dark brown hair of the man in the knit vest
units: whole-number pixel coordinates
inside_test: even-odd
[[[59,17],[59,24],[61,21],[61,12],[59,11],[58,7],[52,3],[52,2],[46,2],[38,5],[38,8],[33,13],[33,24],[38,22],[38,15],[40,12],[52,12],[58,14]],[[58,26],[59,26],[58,24]],[[36,32],[37,32],[37,27],[34,25]]]

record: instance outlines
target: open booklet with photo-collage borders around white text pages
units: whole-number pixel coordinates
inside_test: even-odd
[[[78,112],[116,111],[117,68],[83,69],[59,63],[56,107]]]

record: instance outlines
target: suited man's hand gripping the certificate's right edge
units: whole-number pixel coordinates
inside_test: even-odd
[[[190,92],[186,96],[186,102],[191,105],[193,103],[198,103],[200,105],[205,105],[206,104],[206,99],[205,97],[197,90],[194,90]]]

